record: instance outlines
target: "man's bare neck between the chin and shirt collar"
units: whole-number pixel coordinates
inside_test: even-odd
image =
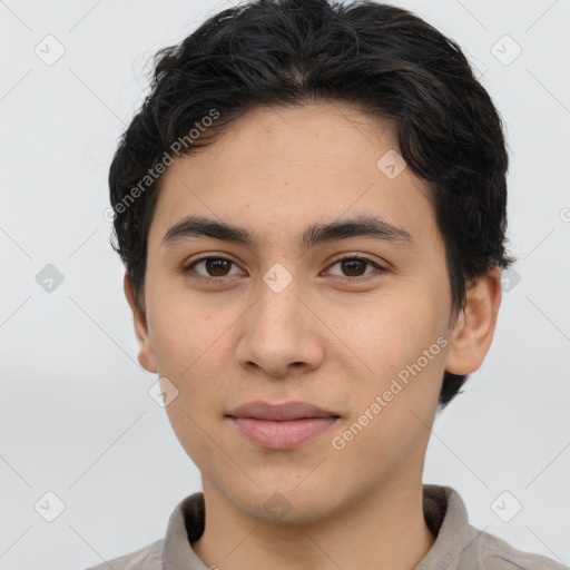
[[[212,568],[413,570],[435,540],[423,515],[421,481],[400,480],[306,524],[246,517],[203,483],[206,525],[191,548]]]

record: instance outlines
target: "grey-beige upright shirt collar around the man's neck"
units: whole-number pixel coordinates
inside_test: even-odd
[[[436,538],[414,570],[458,570],[462,552],[478,537],[469,524],[465,504],[451,487],[423,484],[422,489],[425,522]],[[164,570],[209,570],[190,546],[203,534],[204,521],[203,492],[177,504],[164,541]]]

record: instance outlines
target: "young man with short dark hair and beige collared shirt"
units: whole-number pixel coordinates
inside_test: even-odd
[[[508,155],[461,49],[258,0],[163,50],[110,169],[139,362],[203,492],[98,569],[559,569],[422,485],[501,302]]]

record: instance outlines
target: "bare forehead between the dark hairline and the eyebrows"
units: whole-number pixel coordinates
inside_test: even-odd
[[[316,220],[370,214],[410,233],[433,230],[426,181],[396,140],[394,121],[346,104],[255,108],[168,167],[155,237],[189,214],[249,227],[254,237],[256,228],[285,238]]]

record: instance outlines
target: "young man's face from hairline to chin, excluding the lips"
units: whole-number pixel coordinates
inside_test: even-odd
[[[307,522],[421,480],[451,291],[426,183],[397,174],[393,127],[341,104],[257,108],[163,178],[139,361],[176,386],[167,413],[205,491],[242,513],[284,501]],[[196,227],[165,239],[187,216],[250,243]],[[364,216],[392,234],[308,233]],[[227,416],[252,401],[337,417],[272,449]]]

